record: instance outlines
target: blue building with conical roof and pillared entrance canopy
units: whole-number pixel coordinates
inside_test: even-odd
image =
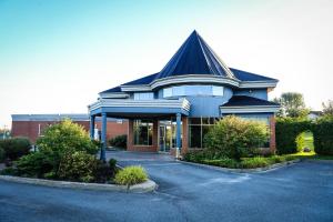
[[[229,68],[193,31],[160,72],[100,92],[89,105],[90,125],[101,117],[103,142],[107,118],[128,119],[128,150],[185,153],[203,147],[216,120],[235,114],[264,121],[271,132],[266,149],[274,151],[280,105],[268,101],[268,93],[276,83]]]

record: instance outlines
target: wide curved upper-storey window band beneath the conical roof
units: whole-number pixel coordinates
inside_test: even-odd
[[[214,95],[223,97],[223,87],[218,85],[178,85],[163,89],[163,98],[184,95]]]

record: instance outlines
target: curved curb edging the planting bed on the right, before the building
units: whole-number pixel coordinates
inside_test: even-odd
[[[222,172],[231,172],[231,173],[261,173],[261,172],[266,172],[270,170],[276,170],[290,164],[294,164],[300,162],[300,159],[296,160],[291,160],[291,161],[286,161],[283,163],[275,163],[273,165],[269,165],[265,168],[254,168],[254,169],[230,169],[230,168],[221,168],[221,167],[216,167],[216,165],[208,165],[208,164],[202,164],[202,163],[193,163],[193,162],[186,162],[186,161],[182,161],[182,160],[178,160],[178,162],[184,163],[184,164],[189,164],[189,165],[196,165],[196,167],[201,167],[201,168],[206,168],[206,169],[212,169],[212,170],[219,170]]]

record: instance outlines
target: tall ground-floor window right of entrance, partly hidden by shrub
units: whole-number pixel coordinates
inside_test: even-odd
[[[216,118],[189,118],[189,148],[203,148],[204,135],[218,120]]]

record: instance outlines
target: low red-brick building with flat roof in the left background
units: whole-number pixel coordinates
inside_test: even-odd
[[[54,123],[59,123],[63,119],[71,119],[73,122],[82,125],[89,131],[89,115],[88,114],[12,114],[12,137],[28,138],[32,143],[39,137],[42,137],[43,130]],[[94,129],[100,132],[101,121],[97,119]],[[107,139],[114,138],[117,135],[128,134],[128,121],[119,119],[108,119],[107,125]],[[100,133],[97,133],[100,137]]]

